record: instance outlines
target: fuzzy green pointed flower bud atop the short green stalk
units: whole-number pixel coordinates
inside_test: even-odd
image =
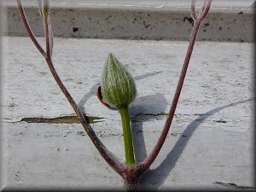
[[[102,73],[102,97],[112,107],[125,108],[137,94],[131,74],[112,53]]]

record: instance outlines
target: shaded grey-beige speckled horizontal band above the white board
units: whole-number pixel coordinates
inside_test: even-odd
[[[7,27],[4,34],[25,36],[18,9],[5,9]],[[27,8],[26,15],[34,32],[42,36],[38,9]],[[73,38],[135,38],[189,40],[192,19],[188,10],[154,9],[51,9],[55,36]],[[201,26],[199,40],[253,42],[253,12],[213,9]]]

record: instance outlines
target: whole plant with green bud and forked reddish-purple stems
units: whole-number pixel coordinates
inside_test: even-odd
[[[79,110],[77,103],[73,100],[73,96],[70,95],[65,85],[61,82],[59,75],[55,71],[55,67],[52,62],[53,53],[53,32],[50,26],[50,9],[48,0],[39,0],[39,12],[44,24],[44,36],[45,36],[45,50],[38,44],[38,40],[35,38],[31,27],[26,19],[26,14],[20,0],[16,0],[19,10],[20,17],[26,27],[26,31],[29,37],[32,39],[33,44],[36,46],[38,51],[44,56],[45,61],[49,66],[49,70],[55,79],[55,82],[59,85],[62,93],[66,96],[67,101],[73,107],[74,112],[77,114],[81,125],[84,127],[84,131],[87,132],[90,140],[95,145],[96,149],[102,155],[102,158],[108,162],[108,165],[113,168],[121,177],[124,178],[125,188],[127,190],[137,190],[139,178],[143,172],[148,170],[149,166],[154,162],[155,158],[160,152],[163,144],[166,141],[168,131],[170,130],[172,119],[177,108],[178,98],[180,96],[183,81],[187,69],[189,67],[189,60],[192,54],[195,40],[201,26],[201,22],[207,17],[208,11],[211,7],[212,0],[207,0],[201,7],[200,13],[195,11],[195,1],[191,3],[191,15],[194,20],[193,31],[189,40],[189,48],[183,62],[182,72],[180,74],[177,89],[174,94],[170,111],[166,117],[166,124],[164,125],[163,131],[155,144],[151,154],[141,163],[136,163],[134,160],[134,151],[131,138],[131,126],[129,118],[129,103],[135,98],[137,90],[136,85],[131,78],[131,74],[122,66],[122,64],[110,53],[108,55],[108,61],[103,69],[101,86],[98,89],[97,96],[100,101],[108,108],[114,107],[119,109],[119,113],[122,119],[123,131],[124,131],[124,143],[125,143],[125,164],[115,158],[115,156],[105,147],[101,140],[96,136],[95,131],[90,126],[89,122],[85,119],[84,114]]]

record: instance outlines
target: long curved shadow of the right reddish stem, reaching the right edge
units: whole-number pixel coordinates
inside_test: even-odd
[[[189,143],[190,137],[195,132],[195,130],[199,127],[199,125],[201,125],[203,120],[211,117],[214,113],[218,113],[224,108],[230,108],[232,106],[236,106],[236,105],[239,105],[245,102],[251,102],[251,101],[253,101],[253,98],[242,100],[240,102],[233,102],[219,108],[213,108],[207,113],[201,114],[198,118],[196,118],[193,122],[191,122],[186,127],[186,129],[181,134],[181,136],[185,135],[186,137],[179,137],[179,139],[177,140],[177,143],[172,148],[172,151],[166,155],[166,159],[163,160],[160,166],[158,166],[154,170],[148,169],[148,171],[143,174],[143,176],[140,179],[140,189],[156,191],[160,187],[160,185],[166,180],[166,177],[168,177],[170,172],[172,172],[172,169],[177,163],[178,158],[183,153],[183,149]],[[148,185],[148,178],[150,178],[150,180],[152,180],[154,184]]]

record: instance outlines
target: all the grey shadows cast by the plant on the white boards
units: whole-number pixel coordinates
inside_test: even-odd
[[[162,73],[162,71],[140,75],[135,77],[134,79],[135,81],[140,79],[146,79],[159,73]],[[84,104],[90,99],[90,96],[96,95],[96,90],[99,85],[99,83],[94,84],[91,87],[90,92],[86,94],[78,103],[79,109],[84,114],[86,119],[88,119],[88,117],[86,116],[84,110]],[[218,113],[224,108],[230,108],[232,106],[236,106],[241,103],[250,101],[253,101],[253,98],[242,100],[240,102],[233,102],[219,108],[213,108],[207,113],[201,114],[186,127],[183,133],[181,133],[181,136],[186,135],[186,137],[179,137],[177,143],[174,145],[171,152],[166,155],[166,159],[163,160],[160,166],[158,166],[154,170],[148,169],[148,171],[143,174],[143,176],[140,178],[140,189],[147,189],[150,191],[156,191],[157,189],[159,189],[160,185],[166,180],[166,177],[168,177],[170,172],[172,172],[173,167],[177,163],[180,155],[183,153],[183,149],[189,142],[190,137],[192,137],[192,134],[199,127],[199,125],[201,125],[203,120],[211,117],[214,113]],[[131,103],[131,129],[133,135],[134,152],[138,163],[145,160],[145,158],[148,156],[143,136],[143,123],[151,119],[155,119],[155,115],[164,114],[167,106],[168,102],[166,101],[165,96],[163,96],[162,94],[140,96]],[[154,184],[148,185],[148,178],[150,178],[150,180],[152,180]]]

